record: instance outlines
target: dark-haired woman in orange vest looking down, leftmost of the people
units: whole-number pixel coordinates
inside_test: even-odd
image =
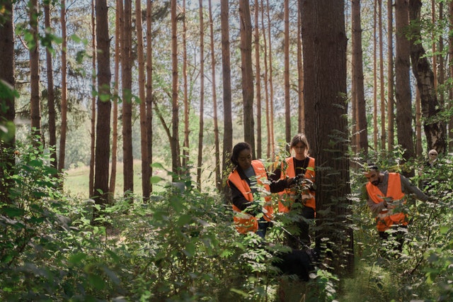
[[[253,232],[264,238],[273,219],[270,193],[292,185],[293,179],[271,181],[263,162],[252,160],[251,145],[239,142],[231,152],[233,171],[227,184],[231,190],[234,224],[239,233]]]

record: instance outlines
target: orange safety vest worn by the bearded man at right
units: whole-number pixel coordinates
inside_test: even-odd
[[[367,192],[369,198],[372,199],[374,203],[380,203],[384,201],[381,190],[377,186],[374,186],[372,183],[367,183]],[[391,197],[394,201],[401,200],[402,203],[406,203],[406,196],[403,191],[401,191],[401,178],[398,173],[389,173],[389,185],[387,187],[387,194],[385,197]],[[376,216],[377,230],[379,232],[384,232],[388,230],[391,225],[408,225],[408,217],[405,213],[394,213],[393,209],[384,208]]]

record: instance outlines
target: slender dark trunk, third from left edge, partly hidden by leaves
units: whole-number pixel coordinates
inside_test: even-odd
[[[44,23],[45,28],[50,28],[50,4],[44,4]],[[55,169],[58,169],[57,161],[57,126],[55,120],[57,113],[55,112],[55,89],[54,89],[54,73],[52,67],[52,53],[49,48],[45,50],[46,67],[47,67],[47,110],[49,111],[49,146],[52,147],[50,151],[50,164]],[[1,69],[3,70],[3,69]]]

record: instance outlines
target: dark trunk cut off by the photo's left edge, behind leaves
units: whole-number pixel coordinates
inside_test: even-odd
[[[11,150],[16,145],[13,1],[0,1],[0,8],[3,11],[0,17],[0,201],[9,203],[11,181],[8,179],[15,161]]]

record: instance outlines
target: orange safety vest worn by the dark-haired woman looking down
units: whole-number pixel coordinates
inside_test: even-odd
[[[265,181],[268,180],[268,174],[266,173],[266,169],[263,165],[262,162],[259,160],[252,160],[252,167],[253,170],[255,171],[256,175],[256,180],[257,184],[259,186],[263,186],[266,191],[270,192],[270,187],[268,184],[265,184],[262,179]],[[228,180],[231,181],[231,183],[236,186],[236,188],[241,191],[243,196],[248,200],[248,201],[253,201],[253,194],[250,189],[250,186],[248,186],[248,182],[246,179],[241,179],[241,176],[239,175],[239,172],[237,172],[236,169],[234,169],[231,174],[229,174]],[[233,206],[233,220],[234,224],[236,225],[236,230],[238,230],[239,233],[245,234],[248,232],[253,232],[255,233],[258,230],[258,219],[255,216],[251,216],[249,213],[245,213],[241,211],[237,206]],[[272,202],[270,201],[270,196],[265,196],[265,204],[263,206],[264,209],[264,219],[270,221],[273,219],[273,207],[272,207]]]

